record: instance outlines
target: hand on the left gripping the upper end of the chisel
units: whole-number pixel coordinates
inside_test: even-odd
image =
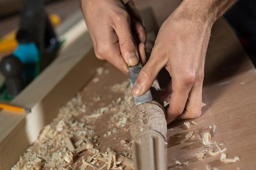
[[[81,6],[96,57],[128,74],[127,64],[137,65],[138,47],[145,48],[146,42],[143,19],[133,1],[81,0]]]

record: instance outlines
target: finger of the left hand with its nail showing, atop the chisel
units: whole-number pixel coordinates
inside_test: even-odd
[[[119,16],[116,21],[114,30],[119,40],[119,48],[128,65],[137,65],[139,62],[139,54],[137,44],[131,31],[131,18],[127,16]]]

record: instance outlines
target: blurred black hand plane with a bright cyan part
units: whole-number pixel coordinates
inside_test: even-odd
[[[56,25],[59,23],[57,16],[52,20]],[[17,96],[55,59],[60,48],[43,0],[24,0],[16,40],[15,51],[0,62],[0,71],[6,80],[0,88],[0,100],[12,100]],[[12,45],[14,42],[10,39],[6,48]]]

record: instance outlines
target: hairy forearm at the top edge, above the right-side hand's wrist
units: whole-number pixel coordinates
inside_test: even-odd
[[[183,0],[182,16],[213,24],[238,0]]]

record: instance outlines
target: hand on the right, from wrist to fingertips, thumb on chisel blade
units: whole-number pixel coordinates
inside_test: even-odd
[[[173,119],[201,115],[204,61],[212,23],[189,14],[181,4],[161,26],[151,57],[140,71],[132,89],[135,96],[144,94],[160,69],[165,67],[172,81],[161,94],[170,98],[167,124]]]

